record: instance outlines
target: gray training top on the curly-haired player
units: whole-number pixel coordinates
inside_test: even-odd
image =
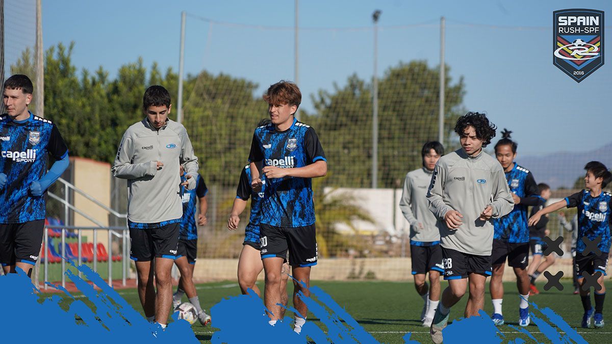
[[[514,207],[504,170],[496,159],[480,152],[476,157],[463,149],[444,155],[433,171],[427,193],[429,209],[438,218],[442,247],[471,255],[491,255],[493,221],[479,220],[488,205],[493,219]],[[463,215],[457,230],[450,230],[444,215],[455,210]]]

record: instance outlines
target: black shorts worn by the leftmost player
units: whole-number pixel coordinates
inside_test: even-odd
[[[0,223],[0,263],[35,265],[45,230],[45,220],[23,223]]]

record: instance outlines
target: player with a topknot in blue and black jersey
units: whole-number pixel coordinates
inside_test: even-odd
[[[517,165],[517,143],[510,139],[510,131],[504,129],[502,139],[495,144],[495,156],[504,169],[506,181],[514,200],[514,208],[505,216],[493,222],[493,249],[491,261],[493,262],[493,275],[489,284],[491,301],[493,302],[493,315],[491,320],[496,326],[504,324],[502,315],[502,299],[504,298],[504,264],[506,257],[508,265],[512,267],[517,276],[519,294],[518,324],[529,325],[529,275],[526,268],[529,260],[529,227],[527,226],[527,207],[538,203],[539,195],[534,176],[524,168]]]

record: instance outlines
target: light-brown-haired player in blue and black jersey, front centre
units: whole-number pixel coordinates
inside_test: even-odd
[[[299,333],[306,321],[307,306],[297,293],[310,296],[310,267],[317,262],[311,178],[325,176],[327,160],[315,130],[294,118],[302,100],[296,84],[279,81],[267,89],[264,100],[269,104],[272,124],[255,129],[248,159],[253,190],[259,192],[260,176],[266,176],[259,223],[266,274],[264,303],[274,325],[280,318],[280,280],[289,251],[293,304],[298,312],[294,331]]]

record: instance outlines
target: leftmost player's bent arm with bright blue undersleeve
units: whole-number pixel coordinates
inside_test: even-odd
[[[70,165],[68,148],[64,139],[59,133],[58,127],[56,127],[55,124],[52,125],[53,127],[51,128],[51,136],[47,144],[47,151],[53,156],[55,162],[44,176],[38,181],[33,181],[32,184],[30,184],[30,192],[34,196],[41,196],[51,184],[58,180],[62,173],[68,168],[68,165]]]

